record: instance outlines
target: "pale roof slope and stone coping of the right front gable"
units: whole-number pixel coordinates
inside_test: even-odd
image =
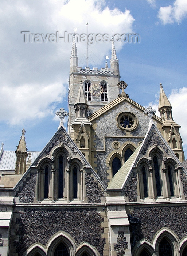
[[[175,159],[176,162],[178,162],[179,166],[181,165],[179,159],[176,157],[168,143],[165,141],[164,137],[161,135],[159,130],[156,128],[156,126],[152,123],[149,128],[148,132],[145,135],[145,138],[142,142],[142,144],[135,150],[135,152],[130,156],[130,158],[124,163],[124,165],[118,170],[118,172],[114,175],[112,180],[110,181],[107,189],[115,189],[115,190],[123,190],[133,172],[133,168],[137,166],[137,163],[140,158],[145,154],[145,146],[149,145],[152,146],[155,144],[155,138],[152,139],[151,133],[156,132],[157,136],[157,142],[159,146],[162,146],[164,150],[168,153],[168,155],[171,155],[172,158]],[[151,140],[153,140],[151,142]],[[183,169],[184,170],[184,169]],[[185,172],[186,173],[186,172]]]

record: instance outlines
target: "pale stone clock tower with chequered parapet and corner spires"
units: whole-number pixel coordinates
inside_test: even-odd
[[[69,95],[68,95],[68,132],[73,137],[73,130],[71,124],[77,117],[77,108],[74,105],[77,104],[77,95],[79,94],[80,83],[81,89],[84,90],[87,104],[88,116],[98,109],[102,108],[109,102],[112,102],[117,98],[120,93],[120,89],[117,83],[120,80],[119,61],[116,56],[116,50],[114,46],[114,39],[112,37],[112,53],[110,60],[110,68],[106,61],[105,67],[90,69],[90,67],[78,67],[77,46],[75,42],[75,35],[73,37],[73,46],[70,56],[70,78],[69,78]],[[80,102],[81,103],[81,102]]]

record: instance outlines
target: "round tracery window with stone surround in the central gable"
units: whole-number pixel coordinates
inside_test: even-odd
[[[121,129],[126,131],[132,131],[138,125],[138,120],[136,116],[130,112],[123,112],[119,114],[117,118],[117,123]]]

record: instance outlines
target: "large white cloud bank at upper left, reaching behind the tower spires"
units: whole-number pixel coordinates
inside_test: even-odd
[[[69,57],[72,43],[24,43],[21,31],[33,34],[51,34],[59,31],[86,33],[124,34],[132,32],[134,19],[129,10],[110,10],[105,1],[14,1],[1,0],[0,6],[0,121],[19,124],[35,118],[54,114],[57,103],[62,102],[67,91]],[[90,12],[91,10],[91,12]],[[89,14],[89,15],[88,15]],[[122,43],[116,43],[116,50]],[[105,64],[111,44],[97,43],[89,46],[93,52],[91,64]],[[79,65],[85,65],[80,56],[86,52],[86,44],[77,44]],[[95,53],[97,52],[97,54]],[[101,56],[98,59],[97,56]],[[90,66],[91,66],[90,64]]]

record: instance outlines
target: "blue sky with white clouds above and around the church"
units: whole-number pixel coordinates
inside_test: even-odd
[[[93,36],[88,46],[90,68],[105,67],[105,57],[111,57],[110,40],[98,41],[96,35],[138,35],[138,42],[124,36],[115,41],[120,80],[128,84],[125,91],[133,101],[155,110],[162,83],[174,121],[181,125],[186,151],[186,0],[1,0],[0,142],[4,150],[16,150],[23,128],[28,151],[41,151],[57,131],[60,119],[55,112],[62,107],[68,110],[72,40],[64,37],[74,29],[83,68],[87,29]]]

